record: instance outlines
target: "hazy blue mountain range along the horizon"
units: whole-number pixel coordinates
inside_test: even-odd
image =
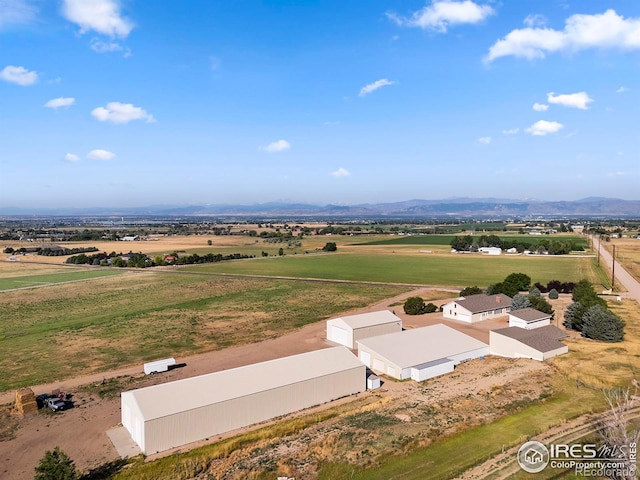
[[[575,201],[449,198],[359,205],[312,205],[270,202],[253,205],[153,205],[134,208],[9,208],[0,215],[17,216],[238,216],[238,217],[536,217],[606,216],[640,218],[640,200],[589,197]]]

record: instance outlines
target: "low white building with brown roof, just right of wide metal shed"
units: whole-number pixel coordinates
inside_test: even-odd
[[[567,353],[569,347],[560,339],[568,336],[553,325],[529,330],[520,327],[500,328],[489,332],[489,351],[501,357],[543,361]]]

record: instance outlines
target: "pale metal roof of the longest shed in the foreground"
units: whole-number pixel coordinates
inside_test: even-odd
[[[153,420],[353,368],[363,369],[364,383],[360,360],[346,347],[332,347],[130,390],[122,397]]]

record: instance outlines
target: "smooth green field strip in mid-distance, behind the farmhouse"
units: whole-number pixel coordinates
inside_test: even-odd
[[[285,255],[184,268],[187,271],[443,286],[486,287],[513,272],[526,273],[533,283],[577,282],[582,278],[597,281],[592,259],[582,257],[334,253]]]

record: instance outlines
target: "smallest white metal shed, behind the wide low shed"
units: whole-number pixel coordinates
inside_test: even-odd
[[[351,349],[363,338],[401,331],[402,319],[389,310],[327,320],[327,340]]]

